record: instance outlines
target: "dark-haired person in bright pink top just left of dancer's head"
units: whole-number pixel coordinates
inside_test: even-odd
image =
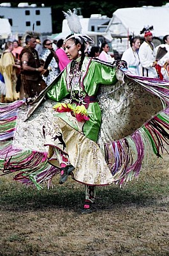
[[[62,71],[68,65],[68,63],[70,63],[70,60],[64,51],[63,39],[59,39],[57,41],[57,50],[55,51],[55,54],[59,59],[59,68]]]

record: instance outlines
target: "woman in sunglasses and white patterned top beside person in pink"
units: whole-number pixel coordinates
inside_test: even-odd
[[[59,59],[52,47],[52,42],[49,39],[43,41],[43,51],[40,54],[40,60],[44,65],[46,72],[42,75],[45,83],[48,85],[54,81],[59,75]]]

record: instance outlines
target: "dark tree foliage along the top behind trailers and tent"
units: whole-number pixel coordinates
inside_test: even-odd
[[[149,0],[149,1],[112,1],[112,3],[108,3],[108,1],[60,1],[60,3],[51,4],[47,3],[47,1],[43,1],[46,7],[52,8],[52,31],[53,33],[60,33],[62,30],[62,20],[64,19],[64,15],[62,11],[67,12],[69,9],[73,10],[73,8],[78,9],[78,15],[83,15],[84,18],[91,17],[91,14],[99,13],[101,15],[107,15],[107,17],[111,18],[112,14],[115,10],[119,8],[129,8],[129,7],[141,7],[143,5],[152,5],[152,6],[161,6],[167,1],[161,0]],[[29,3],[33,4],[33,3]],[[41,3],[34,3],[37,6],[41,6]],[[11,6],[17,6],[18,3],[11,3]],[[131,17],[132,19],[132,17]]]

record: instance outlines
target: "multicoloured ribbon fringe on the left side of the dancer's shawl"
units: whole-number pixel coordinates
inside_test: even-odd
[[[26,185],[34,184],[41,189],[41,182],[47,182],[50,186],[52,177],[60,171],[48,164],[47,152],[34,150],[21,150],[13,147],[13,136],[17,125],[18,108],[25,104],[23,100],[1,106],[1,148],[0,170],[1,175],[11,172],[20,172],[14,180]]]

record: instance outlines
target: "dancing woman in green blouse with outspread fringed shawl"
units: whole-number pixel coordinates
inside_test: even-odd
[[[13,147],[5,140],[13,136],[10,129],[0,150],[3,173],[19,171],[14,179],[24,184],[41,188],[57,173],[61,186],[69,175],[84,184],[82,213],[94,210],[96,186],[122,185],[138,177],[146,148],[151,145],[161,156],[169,139],[169,83],[133,76],[123,61],[111,65],[85,57],[89,40],[81,33],[67,36],[64,47],[71,62],[32,102],[27,115],[16,111],[23,101],[2,106],[6,129],[12,113],[18,122]],[[22,116],[25,122],[20,122]]]

